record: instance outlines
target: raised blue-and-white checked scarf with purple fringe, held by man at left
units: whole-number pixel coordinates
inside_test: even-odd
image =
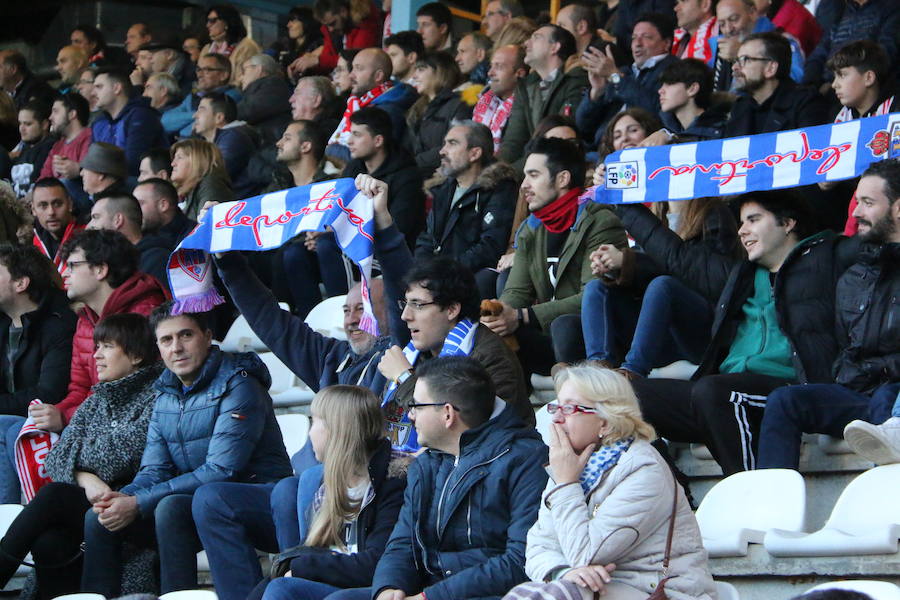
[[[224,300],[213,286],[210,253],[271,250],[304,231],[334,230],[338,245],[362,273],[360,329],[378,335],[369,299],[375,224],[372,199],[353,179],[335,179],[223,202],[211,208],[169,259],[174,314],[205,312]]]

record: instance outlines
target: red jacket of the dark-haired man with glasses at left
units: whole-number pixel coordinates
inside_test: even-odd
[[[90,395],[91,386],[97,383],[97,365],[94,362],[94,326],[107,315],[150,312],[166,301],[168,292],[150,275],[138,271],[117,287],[99,316],[89,306],[78,311],[78,324],[72,338],[72,369],[69,375],[69,391],[56,405],[68,424],[72,415]]]

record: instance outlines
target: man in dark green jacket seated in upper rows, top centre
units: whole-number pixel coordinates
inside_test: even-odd
[[[581,67],[566,71],[566,59],[573,54],[575,38],[559,25],[544,25],[525,42],[525,63],[531,73],[516,86],[500,160],[521,169],[525,144],[541,119],[555,114],[574,116],[588,79]]]

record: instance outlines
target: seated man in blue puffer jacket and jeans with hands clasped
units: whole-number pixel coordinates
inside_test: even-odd
[[[291,474],[265,365],[253,353],[213,348],[205,315],[170,311],[166,303],[150,316],[166,370],[154,384],[140,471],[85,517],[82,587],[108,598],[121,594],[122,542],[146,545],[154,531],[163,593],[197,587],[202,545],[191,515],[197,488],[220,481],[274,485]]]

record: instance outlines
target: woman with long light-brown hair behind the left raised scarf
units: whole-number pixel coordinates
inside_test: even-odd
[[[215,144],[188,138],[175,142],[169,152],[172,184],[178,191],[179,206],[189,219],[196,219],[207,202],[234,200],[225,161]]]

